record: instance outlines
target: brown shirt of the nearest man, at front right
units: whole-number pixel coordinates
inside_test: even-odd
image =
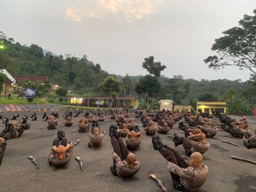
[[[203,167],[187,167],[186,169],[180,168],[174,163],[169,163],[169,172],[180,176],[180,182],[189,191],[198,190],[207,178],[208,167],[203,164]]]

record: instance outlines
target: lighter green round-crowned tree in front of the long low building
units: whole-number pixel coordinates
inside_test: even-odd
[[[121,82],[118,79],[115,79],[111,76],[108,76],[101,84],[99,88],[106,94],[111,95],[112,100],[110,108],[112,107],[113,100],[116,99],[117,93],[122,89]]]

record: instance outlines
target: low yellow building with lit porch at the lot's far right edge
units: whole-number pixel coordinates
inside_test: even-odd
[[[212,110],[218,110],[220,113],[227,112],[226,102],[196,102],[197,113],[204,113],[208,111],[211,113]]]

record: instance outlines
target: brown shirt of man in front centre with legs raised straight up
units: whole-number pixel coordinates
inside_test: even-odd
[[[126,160],[121,161],[120,157],[116,153],[113,154],[113,160],[116,163],[115,164],[116,165],[116,173],[119,177],[132,176],[140,170],[140,162],[139,161],[135,161],[134,166],[131,167],[128,165]]]

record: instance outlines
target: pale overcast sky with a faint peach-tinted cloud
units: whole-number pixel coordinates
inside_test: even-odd
[[[161,75],[185,79],[250,78],[249,70],[209,69],[215,38],[256,0],[0,0],[0,31],[20,44],[57,55],[87,55],[116,75],[146,75],[144,58],[166,65]]]

